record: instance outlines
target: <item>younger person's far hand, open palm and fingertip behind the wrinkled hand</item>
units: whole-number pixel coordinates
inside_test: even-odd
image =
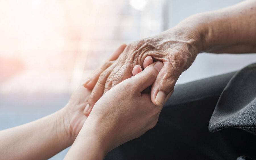
[[[100,73],[102,70],[105,70],[108,68],[123,52],[126,45],[122,44],[118,47],[116,51],[113,52],[113,54],[109,57],[106,63],[102,65],[99,69],[97,69],[95,72],[92,73],[90,77],[96,78],[95,81],[90,81],[91,85],[94,87],[98,77],[100,76]],[[89,78],[90,79],[90,78]],[[85,82],[86,83],[86,82]],[[88,99],[90,95],[92,94],[92,88],[87,89],[83,85],[79,86],[75,90],[75,92],[72,94],[71,99],[69,100],[68,104],[61,110],[61,114],[63,114],[63,122],[65,126],[65,130],[67,133],[67,137],[72,140],[72,143],[74,142],[75,138],[77,137],[77,134],[80,132],[86,118],[88,117]],[[88,113],[88,114],[85,114]]]

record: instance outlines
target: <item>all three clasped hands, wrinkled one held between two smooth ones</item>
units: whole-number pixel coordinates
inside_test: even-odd
[[[74,139],[79,133],[74,144],[95,144],[103,150],[102,158],[156,125],[179,75],[197,55],[191,41],[177,40],[173,35],[174,39],[169,40],[167,36],[160,34],[121,45],[73,94],[65,115],[76,112],[83,117],[67,122],[68,133]],[[79,107],[69,107],[74,105]],[[80,148],[73,146],[73,152]]]

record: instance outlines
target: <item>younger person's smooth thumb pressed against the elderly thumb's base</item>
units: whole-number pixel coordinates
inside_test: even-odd
[[[135,76],[129,78],[133,86],[138,92],[142,92],[147,87],[151,86],[164,64],[162,62],[155,62],[146,67],[143,71]]]

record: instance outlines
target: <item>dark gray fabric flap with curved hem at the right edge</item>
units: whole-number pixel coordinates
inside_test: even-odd
[[[209,130],[215,132],[230,127],[256,134],[256,63],[230,79],[216,104]]]

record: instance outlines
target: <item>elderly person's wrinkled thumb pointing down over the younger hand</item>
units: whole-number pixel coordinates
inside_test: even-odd
[[[155,105],[161,106],[169,99],[179,75],[179,70],[173,68],[168,62],[164,62],[164,67],[151,88],[151,101]]]

